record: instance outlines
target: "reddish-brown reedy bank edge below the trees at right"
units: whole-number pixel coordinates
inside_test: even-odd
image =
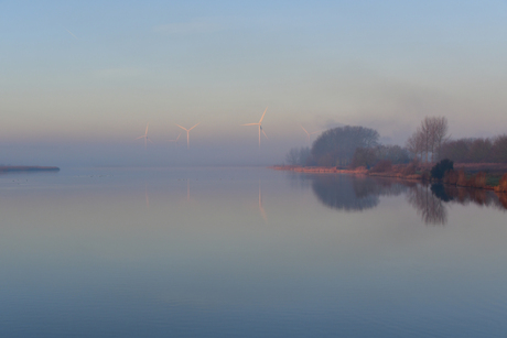
[[[386,178],[396,178],[402,181],[414,181],[414,182],[429,182],[429,183],[442,183],[449,186],[457,186],[464,188],[475,188],[475,189],[485,189],[492,190],[495,193],[507,193],[506,183],[507,183],[507,174],[504,174],[503,178],[497,186],[475,186],[471,181],[466,181],[463,184],[456,183],[447,183],[445,179],[433,179],[424,174],[411,174],[404,175],[399,172],[371,172],[365,167],[360,167],[357,170],[344,170],[344,168],[336,168],[336,167],[324,167],[324,166],[298,166],[298,165],[272,165],[268,168],[276,170],[276,171],[290,171],[296,173],[308,173],[308,174],[348,174],[348,175],[356,175],[356,176],[375,176],[375,177],[386,177]],[[472,181],[473,182],[473,181]]]

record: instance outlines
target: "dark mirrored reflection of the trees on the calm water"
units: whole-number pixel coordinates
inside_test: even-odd
[[[444,186],[442,184],[422,185],[414,182],[390,181],[374,177],[353,177],[347,175],[298,175],[305,184],[310,181],[319,200],[325,206],[345,210],[362,211],[375,208],[380,196],[406,194],[427,225],[445,225],[447,210],[445,204],[476,204],[479,206],[507,209],[507,196],[474,188]]]

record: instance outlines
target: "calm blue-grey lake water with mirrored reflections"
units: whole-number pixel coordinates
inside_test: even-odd
[[[266,168],[0,176],[0,337],[506,337],[507,199]]]

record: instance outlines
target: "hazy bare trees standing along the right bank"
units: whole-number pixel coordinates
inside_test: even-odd
[[[407,140],[406,146],[379,143],[379,133],[370,128],[345,126],[324,131],[311,148],[291,149],[285,156],[290,165],[373,167],[379,162],[391,164],[420,161],[434,163],[443,159],[456,163],[507,163],[507,134],[493,139],[451,140],[444,117],[427,117]]]

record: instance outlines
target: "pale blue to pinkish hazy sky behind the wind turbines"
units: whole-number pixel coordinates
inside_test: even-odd
[[[402,145],[425,116],[503,134],[506,42],[505,1],[0,0],[0,164],[269,165],[301,124]]]

